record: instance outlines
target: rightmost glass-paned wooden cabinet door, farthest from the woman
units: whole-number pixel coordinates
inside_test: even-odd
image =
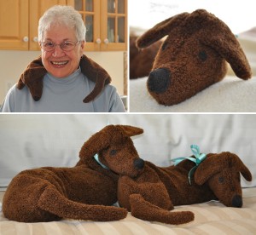
[[[127,50],[127,0],[102,0],[102,50]]]

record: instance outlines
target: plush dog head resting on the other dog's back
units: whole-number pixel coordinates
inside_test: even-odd
[[[131,136],[140,135],[143,129],[127,125],[108,125],[92,135],[79,153],[79,164],[92,169],[135,177],[143,170],[143,160],[138,157]],[[98,155],[99,162],[95,155]]]

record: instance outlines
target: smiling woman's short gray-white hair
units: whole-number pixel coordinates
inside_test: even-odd
[[[44,12],[38,24],[38,41],[42,42],[44,32],[51,26],[60,25],[73,28],[78,41],[85,41],[86,28],[81,14],[71,6],[56,5]]]

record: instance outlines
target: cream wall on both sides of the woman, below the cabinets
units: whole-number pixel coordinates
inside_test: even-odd
[[[39,54],[40,51],[0,50],[0,104],[26,66]],[[119,95],[124,95],[124,52],[85,52],[84,54],[108,71]]]

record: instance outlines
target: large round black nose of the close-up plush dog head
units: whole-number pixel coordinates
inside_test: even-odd
[[[148,89],[155,93],[164,93],[171,83],[171,73],[166,68],[155,69],[148,77]]]

